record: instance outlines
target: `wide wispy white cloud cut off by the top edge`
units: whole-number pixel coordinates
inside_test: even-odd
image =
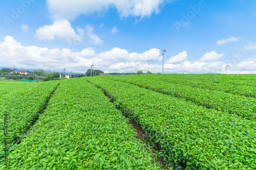
[[[166,0],[47,0],[53,19],[74,19],[80,14],[92,14],[114,7],[120,17],[144,17],[160,12],[160,5]]]

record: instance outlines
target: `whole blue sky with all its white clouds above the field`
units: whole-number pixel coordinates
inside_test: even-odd
[[[21,0],[1,3],[0,67],[256,74],[256,2]],[[170,57],[170,58],[168,58]]]

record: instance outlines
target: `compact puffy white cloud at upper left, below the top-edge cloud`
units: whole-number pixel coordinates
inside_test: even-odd
[[[78,33],[82,34],[78,29]],[[56,20],[53,25],[40,27],[36,30],[36,37],[40,40],[55,40],[55,38],[66,39],[67,42],[73,41],[80,42],[82,35],[77,35],[75,30],[71,27],[71,23],[68,20]]]

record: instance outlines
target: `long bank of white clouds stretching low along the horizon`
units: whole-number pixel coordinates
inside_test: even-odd
[[[6,36],[3,42],[0,42],[0,60],[1,65],[12,67],[15,65],[19,68],[34,69],[42,68],[48,71],[60,71],[63,67],[67,71],[85,72],[94,64],[95,69],[101,69],[104,72],[161,72],[161,57],[152,62],[143,62],[160,56],[160,50],[153,48],[143,53],[129,53],[125,49],[115,47],[110,51],[97,54],[93,48],[88,47],[81,52],[73,53],[67,48],[49,49],[47,47],[23,46],[11,36]],[[225,72],[225,66],[229,63],[210,62],[210,54],[207,53],[194,63],[187,61],[187,52],[182,52],[172,57],[173,60],[180,63],[174,63],[170,60],[164,64],[164,72],[172,73],[206,73],[206,72]],[[217,54],[217,53],[216,53]],[[214,59],[218,59],[219,55]],[[229,74],[256,74],[255,61],[242,61],[237,65],[229,64]]]

